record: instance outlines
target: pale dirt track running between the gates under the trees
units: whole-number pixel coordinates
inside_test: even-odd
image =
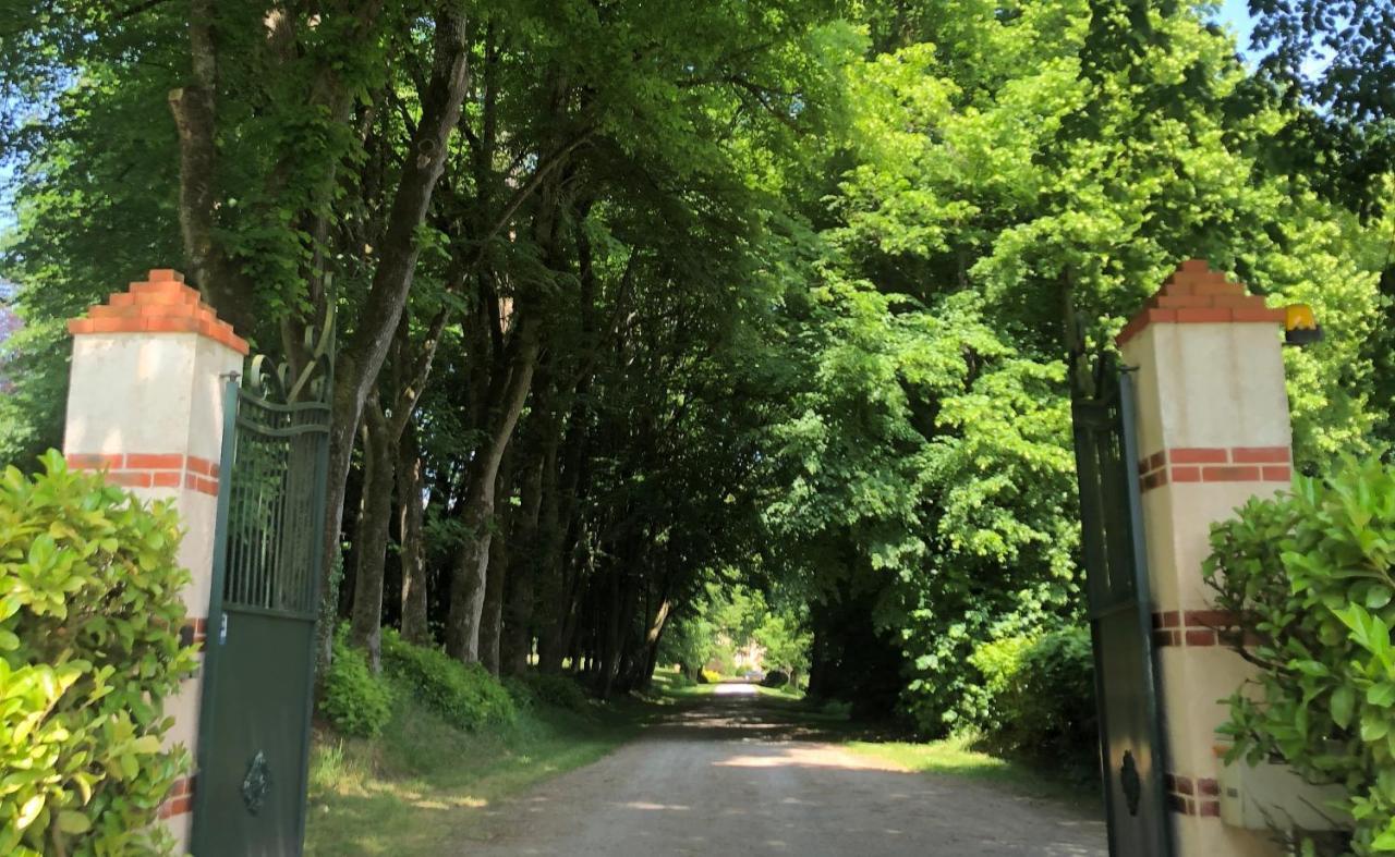
[[[848,752],[748,686],[718,687],[600,762],[502,804],[466,856],[1106,854],[1103,824]]]

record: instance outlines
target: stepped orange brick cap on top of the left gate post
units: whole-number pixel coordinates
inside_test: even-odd
[[[198,333],[243,357],[251,351],[247,340],[184,284],[184,275],[169,268],[152,269],[144,283],[131,283],[130,290],[88,309],[86,318],[71,319],[68,333]]]

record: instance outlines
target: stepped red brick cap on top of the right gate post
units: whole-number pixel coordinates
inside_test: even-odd
[[[1205,259],[1190,259],[1148,298],[1144,309],[1129,319],[1115,337],[1123,346],[1148,325],[1265,322],[1283,323],[1283,309],[1269,309],[1264,298],[1211,270]]]

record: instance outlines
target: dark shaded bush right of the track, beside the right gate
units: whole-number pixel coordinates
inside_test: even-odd
[[[992,694],[985,740],[999,752],[1088,766],[1096,746],[1095,669],[1089,630],[981,645],[972,658]]]

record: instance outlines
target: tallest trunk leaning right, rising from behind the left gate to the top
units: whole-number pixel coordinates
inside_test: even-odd
[[[437,180],[445,167],[446,145],[460,120],[469,78],[469,45],[463,10],[441,6],[435,20],[431,77],[421,96],[421,118],[412,135],[409,156],[392,199],[388,229],[379,247],[365,311],[335,364],[335,390],[329,432],[329,485],[322,542],[321,591],[329,591],[343,523],[345,481],[353,456],[353,438],[368,390],[378,379],[388,346],[406,307],[421,244],[417,230],[425,219]],[[321,628],[319,665],[329,663],[329,633]]]

